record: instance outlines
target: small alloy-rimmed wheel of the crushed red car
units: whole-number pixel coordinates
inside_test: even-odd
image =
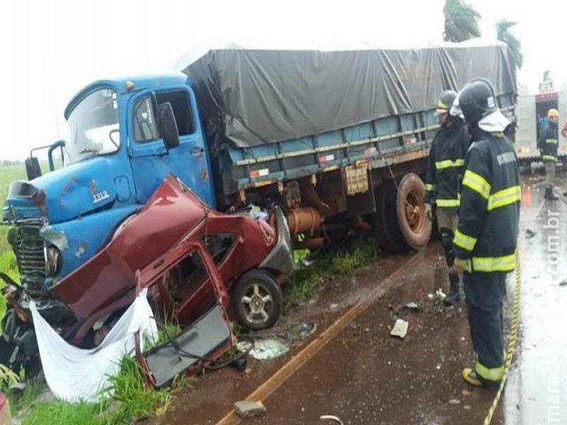
[[[266,271],[245,273],[232,292],[232,307],[238,322],[253,331],[274,326],[282,304],[281,288]]]

